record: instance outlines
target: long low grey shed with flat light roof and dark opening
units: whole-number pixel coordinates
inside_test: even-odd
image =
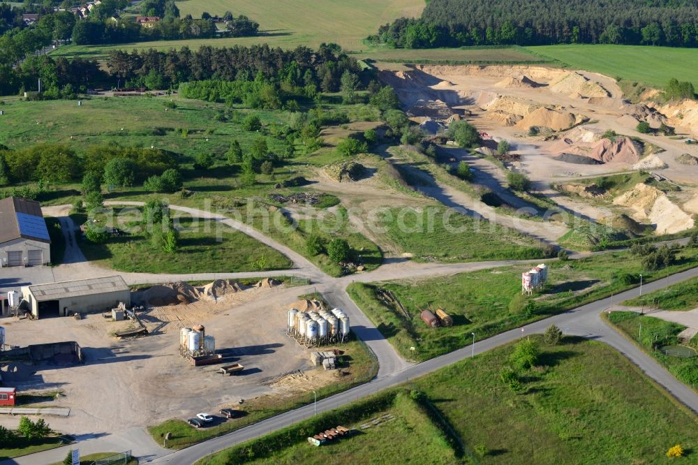
[[[35,318],[110,311],[123,302],[131,306],[131,290],[121,276],[80,279],[22,287],[22,300]]]

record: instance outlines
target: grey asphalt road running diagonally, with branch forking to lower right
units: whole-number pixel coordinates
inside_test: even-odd
[[[652,283],[646,283],[643,286],[643,292],[649,293],[653,290],[659,290],[671,283],[683,281],[692,277],[698,276],[698,267],[692,268],[685,272],[674,274],[669,280],[660,279]],[[628,290],[625,293],[618,294],[614,297],[614,302],[621,302],[631,297],[638,295],[639,289]],[[621,334],[613,330],[609,325],[604,323],[600,314],[603,311],[609,310],[611,307],[611,298],[598,300],[591,304],[586,304],[577,309],[572,309],[560,315],[545,318],[544,320],[531,323],[514,330],[497,334],[489,339],[484,339],[475,344],[475,355],[486,352],[503,344],[515,341],[526,334],[535,334],[544,332],[551,324],[558,325],[566,334],[587,337],[602,341],[605,344],[619,350],[625,357],[636,364],[644,373],[654,381],[662,385],[667,391],[676,397],[678,401],[685,404],[692,411],[698,413],[698,395],[693,392],[688,386],[679,382],[669,374],[669,371],[660,366],[651,357],[646,355],[642,350],[637,348],[631,341],[625,339]],[[447,353],[440,357],[427,360],[419,364],[414,364],[398,371],[378,376],[373,381],[364,385],[357,386],[351,390],[341,392],[332,397],[327,397],[318,401],[318,412],[324,412],[349,404],[352,401],[361,399],[362,397],[375,394],[381,390],[392,388],[395,385],[406,382],[410,379],[424,376],[437,369],[446,367],[447,365],[464,360],[473,354],[473,347],[466,346],[454,352]],[[217,452],[232,445],[248,441],[253,438],[258,438],[272,431],[288,427],[296,422],[309,418],[313,415],[313,404],[297,408],[293,411],[276,415],[273,418],[264,420],[244,427],[237,431],[233,431],[225,436],[213,438],[209,441],[193,445],[190,448],[173,452],[170,455],[165,455],[159,459],[155,459],[152,463],[168,463],[168,464],[193,464],[198,459],[202,459],[207,455]]]

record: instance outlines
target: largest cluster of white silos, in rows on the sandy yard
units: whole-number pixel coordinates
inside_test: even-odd
[[[326,311],[288,310],[286,332],[301,344],[334,344],[349,339],[349,317],[340,309]]]

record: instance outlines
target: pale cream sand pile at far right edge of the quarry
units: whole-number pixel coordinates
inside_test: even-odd
[[[630,208],[636,220],[651,221],[659,234],[681,232],[694,226],[692,217],[671,202],[665,193],[644,183],[616,198],[614,205]]]

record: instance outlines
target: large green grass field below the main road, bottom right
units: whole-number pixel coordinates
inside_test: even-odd
[[[540,337],[531,339],[540,341]],[[442,443],[448,443],[443,431],[450,427],[455,443],[464,445],[463,455],[442,453],[434,456],[437,463],[665,464],[673,463],[664,454],[676,443],[692,450],[684,460],[695,461],[695,415],[678,406],[623,355],[576,338],[540,348],[539,366],[520,374],[524,383],[520,394],[500,381],[500,369],[509,364],[512,353],[509,344],[396,388],[392,400],[390,392],[379,394],[200,463],[343,465],[356,463],[352,457],[360,451],[371,454],[371,460],[384,448],[394,450],[395,443],[401,446],[400,452],[371,463],[429,463],[425,461],[431,453],[439,450],[433,439],[424,443],[424,434],[434,435],[429,422],[424,423],[424,431],[420,427],[400,436],[383,434],[384,426],[378,426],[320,448],[306,443],[312,431],[336,425],[356,427],[384,411],[398,417],[393,421],[408,423],[413,414],[394,407],[403,401],[400,396],[409,395],[406,389],[426,394],[426,402],[436,412],[430,415],[432,422],[439,418],[436,424],[445,425],[439,429]],[[413,459],[422,443],[424,455]],[[339,453],[328,459],[335,450]],[[484,452],[482,457],[471,459],[475,450]]]

